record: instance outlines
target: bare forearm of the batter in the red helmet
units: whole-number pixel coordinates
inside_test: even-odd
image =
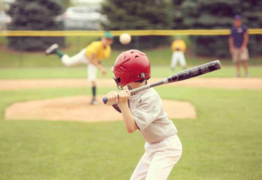
[[[136,129],[138,128],[133,115],[131,114],[128,104],[126,103],[119,103],[121,112],[122,112],[122,116],[123,116],[123,120],[124,120],[124,124],[126,127],[126,130],[129,133],[133,133],[134,131],[136,131]]]

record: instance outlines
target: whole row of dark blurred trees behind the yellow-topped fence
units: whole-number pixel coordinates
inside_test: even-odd
[[[66,14],[68,7],[94,5],[98,6],[99,13],[107,17],[106,21],[101,20],[103,30],[230,29],[235,14],[242,16],[248,28],[262,27],[260,0],[17,0],[7,11],[12,18],[8,30],[66,30],[65,21],[57,20],[57,17]],[[113,49],[145,50],[169,48],[174,37],[137,36],[132,37],[131,43],[126,46],[122,46],[117,39]],[[230,57],[228,36],[183,36],[183,39],[191,45],[190,52],[195,55]],[[53,43],[63,47],[65,39],[8,37],[7,41],[8,47],[16,50],[43,50]],[[262,54],[262,35],[250,35],[248,49],[251,56]]]

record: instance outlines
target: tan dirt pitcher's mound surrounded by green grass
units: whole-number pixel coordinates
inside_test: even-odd
[[[97,97],[98,106],[90,105],[91,96],[70,96],[36,101],[17,102],[5,110],[7,120],[64,120],[64,121],[116,121],[122,116]],[[195,108],[185,101],[163,99],[169,119],[196,118]]]

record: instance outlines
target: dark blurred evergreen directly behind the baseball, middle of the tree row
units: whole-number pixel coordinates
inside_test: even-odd
[[[163,0],[105,0],[102,14],[108,17],[109,23],[103,25],[108,30],[171,29],[171,7]],[[140,36],[139,43],[141,48],[148,48],[170,44],[170,41],[168,36]],[[117,44],[115,41],[113,46]],[[125,48],[134,48],[133,43]]]

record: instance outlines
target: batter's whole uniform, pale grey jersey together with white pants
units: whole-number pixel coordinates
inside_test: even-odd
[[[153,88],[140,91],[129,98],[129,109],[146,141],[145,153],[130,180],[166,180],[181,157],[182,144],[161,98]]]

